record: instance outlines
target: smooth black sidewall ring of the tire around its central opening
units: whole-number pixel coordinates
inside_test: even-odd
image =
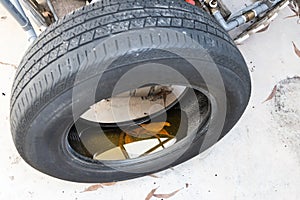
[[[134,52],[134,54],[135,53],[136,52]],[[151,58],[153,59],[153,57]],[[148,58],[149,62],[159,63],[160,61],[157,59],[151,61],[151,58]],[[170,58],[169,60],[163,59],[162,61],[163,64],[168,63],[168,67],[170,68],[176,70],[180,69],[178,67],[178,62],[174,61],[174,58]],[[203,60],[201,60],[201,62],[203,62]],[[205,62],[207,63],[207,61]],[[139,64],[136,63],[134,66],[139,66]],[[210,65],[204,66],[211,67]],[[77,182],[97,182],[100,177],[103,182],[112,181],[112,177],[117,177],[116,180],[140,177],[184,162],[215,144],[233,126],[233,123],[229,123],[229,121],[238,120],[240,113],[245,107],[246,100],[243,99],[243,96],[245,95],[236,95],[236,91],[241,91],[240,87],[243,83],[240,82],[236,84],[237,81],[239,81],[238,77],[235,74],[223,70],[222,66],[218,66],[224,85],[230,86],[230,90],[226,88],[226,106],[229,105],[229,107],[223,108],[224,91],[222,92],[222,90],[219,90],[218,88],[208,91],[206,87],[207,83],[205,83],[201,77],[187,77],[190,83],[193,83],[193,87],[209,94],[215,99],[215,114],[211,117],[211,126],[209,126],[207,130],[199,130],[188,143],[178,145],[176,151],[165,153],[163,156],[156,157],[152,160],[128,162],[123,164],[123,166],[120,165],[118,167],[116,167],[116,165],[111,167],[102,162],[92,162],[75,156],[70,152],[70,147],[68,146],[66,139],[67,133],[74,123],[74,120],[76,120],[78,116],[91,105],[92,101],[89,101],[87,97],[97,94],[97,101],[106,98],[107,94],[112,92],[110,87],[97,87],[98,89],[96,90],[90,90],[88,88],[95,88],[95,83],[99,82],[99,80],[106,82],[106,84],[109,85],[115,85],[118,78],[122,77],[124,74],[124,70],[129,71],[133,66],[125,65],[121,66],[121,68],[123,70],[113,70],[114,76],[111,76],[109,73],[102,73],[87,81],[82,77],[85,81],[82,81],[75,86],[77,87],[75,90],[80,91],[79,94],[74,97],[74,88],[71,88],[55,98],[45,106],[40,113],[38,113],[29,129],[27,129],[26,138],[24,140],[24,152],[27,154],[25,155],[25,158],[28,159],[28,163],[37,163],[37,165],[33,164],[35,168],[51,176]],[[189,69],[193,70],[192,67],[186,67],[182,70],[184,70],[186,74],[191,74],[191,72],[188,72]],[[118,73],[119,76],[117,75]],[[157,73],[159,73],[159,71]],[[116,77],[116,80],[112,79],[112,77]],[[234,77],[236,80],[234,80]],[[157,77],[155,79],[161,83],[170,83],[169,79],[161,80]],[[176,80],[173,80],[173,84],[176,83],[182,84],[180,80],[177,82]],[[135,87],[136,85],[131,84],[131,86]],[[104,96],[101,96],[101,94]],[[240,106],[236,107],[238,104],[240,104]],[[227,121],[224,121],[224,115],[219,113],[220,110],[224,109],[227,109],[227,114],[230,113],[230,115],[227,116],[227,118],[230,117],[230,120],[227,119]],[[74,110],[76,110],[75,113]],[[219,126],[214,126],[214,124],[220,123],[224,124],[222,129],[220,129]],[[35,160],[32,160],[33,158]],[[137,169],[143,169],[144,172],[139,170],[137,173]]]

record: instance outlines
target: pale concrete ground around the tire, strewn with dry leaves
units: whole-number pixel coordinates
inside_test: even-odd
[[[0,7],[0,199],[300,199],[300,24],[285,8],[269,29],[239,48],[252,76],[252,96],[239,123],[209,153],[155,174],[103,185],[44,175],[26,164],[10,134],[9,99],[16,66],[28,47],[26,35]],[[277,85],[274,97],[264,102]],[[274,90],[275,91],[275,90]],[[263,103],[264,102],[264,103]],[[96,187],[96,186],[95,186]],[[153,197],[155,199],[155,197]],[[161,199],[161,198],[159,198]]]

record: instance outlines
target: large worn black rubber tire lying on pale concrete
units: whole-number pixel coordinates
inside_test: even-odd
[[[135,37],[127,35],[129,42],[124,42],[124,34]],[[193,45],[195,41],[201,48]],[[167,49],[182,52],[186,58]],[[96,53],[91,54],[93,50]],[[215,77],[197,75],[187,58],[205,62],[197,66],[204,73],[215,65],[226,93],[214,83]],[[214,114],[206,129],[195,132],[188,146],[181,143],[150,160],[107,165],[73,154],[66,135],[74,120],[93,103],[86,97],[93,93],[96,100],[109,97],[125,72],[149,62],[179,71],[192,86],[215,100]],[[158,68],[153,71],[160,74]],[[155,80],[182,84],[172,76],[156,76]],[[90,89],[95,83],[98,87]],[[102,0],[53,24],[26,52],[12,89],[11,132],[23,159],[51,176],[77,182],[130,179],[182,163],[221,139],[245,110],[250,85],[242,55],[204,11],[174,0]],[[133,86],[129,84],[127,89]],[[74,96],[74,89],[78,95]],[[219,130],[215,124],[222,120]]]

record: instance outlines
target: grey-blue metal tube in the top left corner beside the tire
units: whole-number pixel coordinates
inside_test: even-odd
[[[15,18],[28,35],[28,41],[33,42],[37,36],[18,0],[1,0],[2,5]]]

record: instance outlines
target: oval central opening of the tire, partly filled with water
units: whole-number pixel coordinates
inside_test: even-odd
[[[168,86],[174,87],[174,86]],[[163,154],[163,150],[168,147],[175,147],[179,141],[184,140],[188,135],[188,127],[194,127],[194,129],[199,129],[206,125],[206,122],[210,116],[210,102],[208,97],[203,93],[185,88],[182,86],[175,86],[175,88],[180,89],[180,92],[175,95],[175,99],[167,103],[166,107],[163,107],[161,110],[154,109],[155,112],[150,111],[150,115],[143,116],[140,118],[131,118],[130,121],[120,120],[117,118],[117,121],[107,120],[108,123],[103,123],[101,116],[100,118],[91,117],[91,110],[85,112],[81,118],[73,125],[69,134],[68,134],[68,143],[69,146],[74,150],[79,156],[84,156],[93,160],[109,161],[109,160],[126,160],[134,159],[147,156],[149,154]],[[160,87],[157,87],[160,88]],[[140,89],[147,90],[149,88],[145,87]],[[139,92],[139,91],[138,91]],[[181,98],[188,98],[189,93],[194,93],[196,95],[196,102],[190,103],[190,105],[181,105]],[[145,101],[153,101],[152,98],[145,98],[145,96],[138,96],[142,99],[141,101],[136,101],[137,94],[130,96],[132,91],[129,91],[128,96],[121,94],[122,98],[128,100],[128,98],[133,98],[135,103],[145,103]],[[171,96],[174,96],[174,93],[168,93],[166,99],[171,99]],[[108,105],[107,102],[112,102],[114,100],[120,101],[120,95],[117,97],[101,100],[101,102],[106,101],[105,104],[96,103],[98,105],[92,105],[94,112],[101,112],[105,110],[105,106]],[[149,102],[148,102],[149,103]],[[149,110],[155,106],[161,106],[165,104],[163,98],[159,98],[158,101],[152,102],[151,106],[147,107]],[[195,104],[198,104],[199,113],[201,121],[200,123],[193,122],[189,119],[191,116],[187,113],[187,108],[192,107]],[[118,105],[122,105],[118,104]],[[130,105],[130,104],[127,104]],[[136,104],[134,104],[136,105]],[[149,103],[150,105],[150,103]],[[113,105],[111,105],[113,106]],[[138,106],[138,105],[136,105]],[[97,108],[95,110],[95,107]],[[130,106],[129,106],[130,107]],[[102,109],[101,109],[102,108]],[[119,109],[125,109],[120,108]],[[127,108],[129,111],[132,109]],[[144,112],[143,108],[143,112]],[[112,111],[112,108],[106,109],[106,111]],[[112,113],[106,113],[107,115],[112,116]],[[143,113],[144,114],[144,113]],[[133,114],[134,115],[134,114]],[[135,113],[134,116],[139,116],[138,113]],[[194,123],[191,125],[190,123]],[[191,129],[190,129],[191,130]]]

